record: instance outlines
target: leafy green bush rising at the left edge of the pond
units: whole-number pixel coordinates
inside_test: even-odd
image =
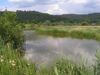
[[[11,43],[14,48],[21,47],[22,31],[17,25],[16,14],[6,12],[0,17],[0,36],[5,44]]]

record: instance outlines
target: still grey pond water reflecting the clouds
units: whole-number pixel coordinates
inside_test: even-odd
[[[95,40],[40,36],[34,31],[24,31],[24,35],[24,58],[36,64],[50,64],[61,57],[94,63],[100,49],[100,42]]]

